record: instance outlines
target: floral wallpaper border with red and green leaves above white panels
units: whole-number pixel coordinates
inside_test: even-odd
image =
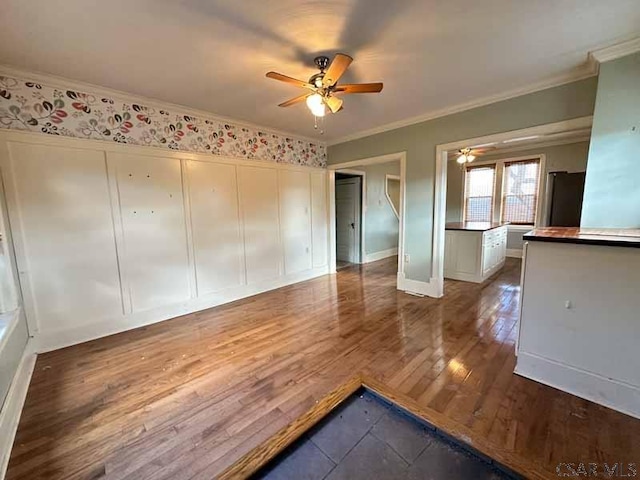
[[[2,74],[0,128],[312,167],[327,164],[320,143]]]

